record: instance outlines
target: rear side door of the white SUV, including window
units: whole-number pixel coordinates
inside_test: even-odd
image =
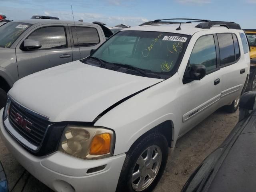
[[[220,104],[228,105],[238,98],[244,87],[248,74],[242,43],[236,33],[217,34],[220,50],[220,72],[222,74]],[[245,37],[245,36],[244,36]]]

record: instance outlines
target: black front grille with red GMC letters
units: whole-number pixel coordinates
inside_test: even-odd
[[[18,121],[17,117],[22,120]],[[49,121],[35,116],[32,112],[25,110],[14,102],[10,104],[9,122],[23,138],[37,147],[42,144],[50,124]],[[29,123],[24,126],[24,122]]]

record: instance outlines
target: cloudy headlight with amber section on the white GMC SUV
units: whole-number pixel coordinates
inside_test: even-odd
[[[113,155],[114,139],[114,132],[109,129],[67,126],[59,150],[84,159],[105,158]]]

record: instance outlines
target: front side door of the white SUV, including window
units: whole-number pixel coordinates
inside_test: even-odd
[[[191,82],[184,82],[181,79],[179,95],[182,127],[179,136],[188,132],[219,108],[221,73],[218,70],[216,35],[198,36],[199,34],[192,36],[187,48],[186,58],[189,59],[185,71],[188,71],[192,64],[202,64],[206,67],[206,76],[201,80]],[[184,70],[180,73],[183,76]]]

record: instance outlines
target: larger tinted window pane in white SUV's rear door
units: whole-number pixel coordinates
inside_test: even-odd
[[[220,65],[235,61],[235,50],[232,34],[217,34],[220,46]]]

